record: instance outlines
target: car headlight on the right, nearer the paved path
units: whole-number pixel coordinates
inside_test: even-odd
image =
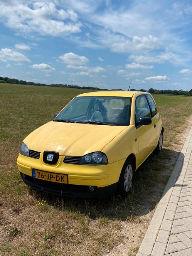
[[[93,152],[84,155],[79,162],[80,165],[106,165],[108,164],[107,156],[103,152]]]

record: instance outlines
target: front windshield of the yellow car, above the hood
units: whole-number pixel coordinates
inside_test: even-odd
[[[127,126],[130,121],[130,103],[131,98],[128,97],[76,97],[54,121]]]

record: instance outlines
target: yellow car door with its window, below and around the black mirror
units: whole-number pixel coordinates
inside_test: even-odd
[[[152,111],[145,94],[137,96],[135,101],[135,127],[138,139],[138,165],[140,165],[152,152],[156,138],[156,130],[153,122],[150,125],[136,125],[141,117],[152,118]]]

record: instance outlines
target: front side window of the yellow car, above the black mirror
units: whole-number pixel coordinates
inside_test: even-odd
[[[135,121],[138,122],[140,117],[152,117],[145,95],[138,96],[135,101]]]

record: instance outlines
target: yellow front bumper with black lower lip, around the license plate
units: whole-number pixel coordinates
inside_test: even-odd
[[[57,165],[48,165],[43,162],[42,156],[40,156],[40,159],[35,159],[19,154],[17,166],[20,173],[24,173],[27,177],[25,179],[22,176],[22,179],[30,187],[71,197],[102,197],[115,192],[125,162],[125,159],[122,159],[108,165],[93,166],[65,164],[63,160],[64,157],[60,156]],[[68,184],[58,185],[58,183],[34,179],[32,178],[32,168],[46,172],[67,174]],[[95,187],[96,190],[91,192],[89,186]]]

